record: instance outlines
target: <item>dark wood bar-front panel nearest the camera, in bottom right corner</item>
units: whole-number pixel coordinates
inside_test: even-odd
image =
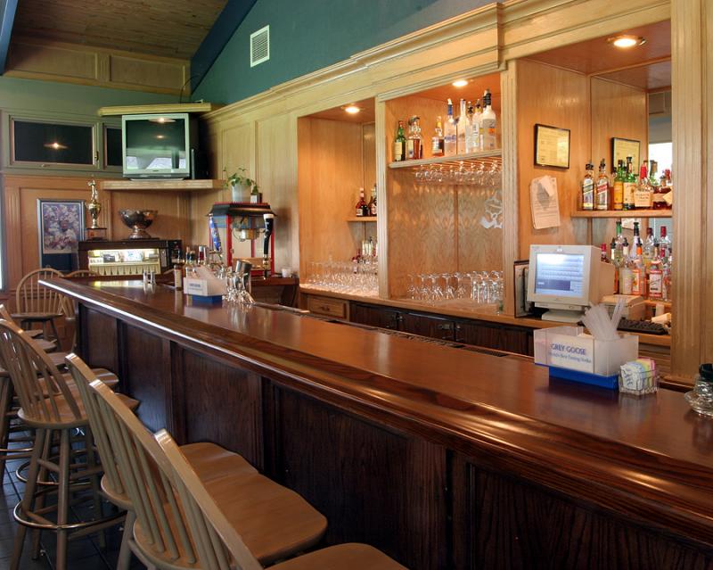
[[[710,570],[713,551],[689,548],[557,492],[453,466],[456,568],[497,570]]]

